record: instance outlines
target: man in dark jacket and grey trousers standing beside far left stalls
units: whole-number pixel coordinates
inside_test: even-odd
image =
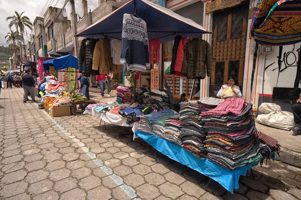
[[[32,101],[36,101],[35,99],[35,79],[34,76],[31,75],[31,70],[25,70],[25,74],[22,76],[23,80],[23,88],[24,88],[24,95],[23,95],[23,102],[26,103],[28,101],[28,95],[30,94]]]

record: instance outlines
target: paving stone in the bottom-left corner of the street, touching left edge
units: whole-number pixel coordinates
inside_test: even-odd
[[[28,183],[25,181],[14,182],[12,184],[5,185],[0,193],[4,198],[11,197],[25,192],[27,186]]]

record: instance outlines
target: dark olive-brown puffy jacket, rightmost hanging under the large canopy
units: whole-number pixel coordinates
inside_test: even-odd
[[[204,79],[211,76],[212,50],[208,41],[194,38],[188,42],[184,51],[181,73],[187,74],[188,79]]]

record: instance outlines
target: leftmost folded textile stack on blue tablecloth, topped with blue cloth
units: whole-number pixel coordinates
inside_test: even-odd
[[[154,134],[164,138],[165,119],[177,115],[178,113],[172,109],[160,110],[151,114],[140,116],[139,130],[147,134]]]

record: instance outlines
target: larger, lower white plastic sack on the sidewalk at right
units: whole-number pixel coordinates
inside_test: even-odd
[[[268,114],[259,114],[257,122],[275,128],[291,130],[295,127],[293,114],[288,111],[273,111]]]

